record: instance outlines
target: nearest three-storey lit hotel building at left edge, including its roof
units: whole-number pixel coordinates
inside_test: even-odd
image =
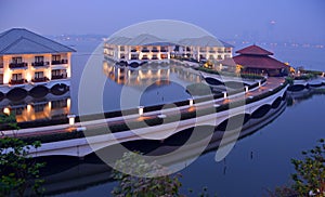
[[[0,34],[0,92],[69,84],[74,49],[23,28]]]

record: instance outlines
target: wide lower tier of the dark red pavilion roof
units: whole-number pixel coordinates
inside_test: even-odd
[[[280,69],[287,67],[287,65],[285,65],[284,63],[270,56],[240,54],[233,57],[233,60],[236,64],[239,64],[246,68]]]

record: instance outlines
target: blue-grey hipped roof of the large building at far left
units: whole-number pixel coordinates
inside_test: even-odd
[[[12,28],[0,34],[0,55],[62,52],[75,50],[24,28]]]

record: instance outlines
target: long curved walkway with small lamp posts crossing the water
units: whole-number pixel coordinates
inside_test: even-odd
[[[107,127],[107,124],[109,124],[109,126],[119,124],[125,121],[136,122],[136,121],[142,121],[144,119],[154,119],[154,118],[159,117],[159,115],[171,116],[171,115],[174,115],[178,113],[186,113],[186,111],[193,111],[196,109],[205,109],[205,108],[211,107],[211,104],[217,106],[217,105],[227,104],[227,103],[243,100],[244,96],[246,98],[249,96],[260,95],[264,92],[268,92],[270,90],[273,90],[273,89],[280,87],[284,82],[285,82],[284,78],[270,77],[270,78],[268,78],[268,80],[264,84],[245,93],[245,95],[243,95],[243,93],[242,93],[242,94],[234,95],[234,96],[226,97],[226,98],[219,98],[219,100],[214,100],[214,101],[208,101],[208,102],[194,104],[193,106],[186,105],[186,106],[181,106],[181,107],[161,109],[161,110],[157,110],[157,111],[144,113],[143,116],[140,116],[139,114],[134,114],[134,115],[128,115],[128,116],[123,116],[123,117],[115,117],[115,118],[84,121],[82,123],[76,122],[74,126],[69,126],[67,123],[67,124],[49,126],[49,127],[40,127],[40,128],[28,128],[28,129],[21,129],[21,130],[1,131],[0,137],[4,137],[4,136],[23,137],[23,136],[49,135],[49,134],[55,134],[55,133],[72,132],[76,128],[80,129],[81,127],[82,128],[80,130],[84,130],[84,129],[92,130],[92,129]]]

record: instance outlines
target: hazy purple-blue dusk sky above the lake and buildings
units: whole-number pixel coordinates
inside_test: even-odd
[[[1,0],[0,31],[112,35],[150,19],[193,23],[222,39],[325,43],[324,0]]]

